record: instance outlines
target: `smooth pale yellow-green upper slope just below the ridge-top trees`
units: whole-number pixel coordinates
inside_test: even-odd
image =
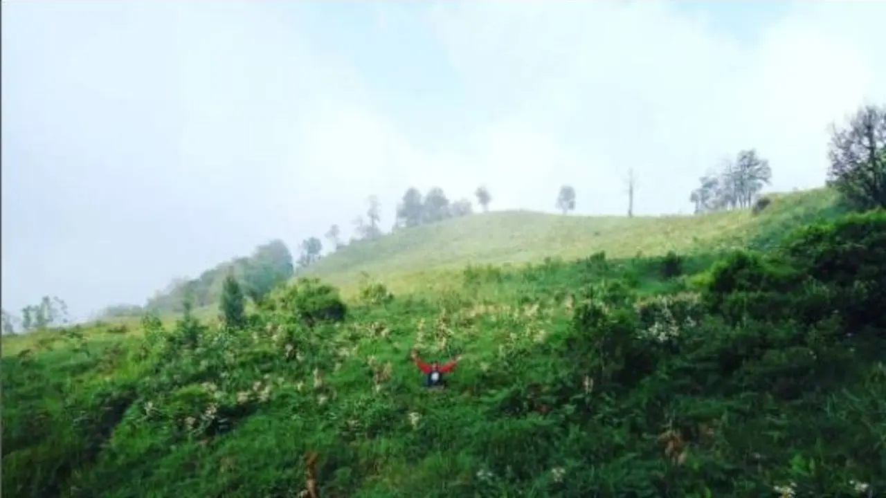
[[[836,213],[827,189],[771,194],[760,214],[750,210],[701,215],[576,216],[506,211],[473,214],[400,230],[361,241],[299,271],[337,285],[351,285],[366,272],[395,290],[409,274],[477,264],[526,263],[546,257],[566,260],[604,251],[632,257],[711,252],[742,245],[765,245],[803,222]],[[757,243],[757,244],[755,244]]]

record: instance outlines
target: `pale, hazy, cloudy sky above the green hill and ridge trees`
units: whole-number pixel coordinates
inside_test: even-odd
[[[494,209],[690,213],[742,149],[819,186],[886,103],[883,2],[28,2],[2,12],[2,304],[144,303],[255,245]]]

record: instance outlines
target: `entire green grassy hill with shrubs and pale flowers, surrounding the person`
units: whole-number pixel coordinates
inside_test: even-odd
[[[532,225],[515,239],[530,249],[498,260],[470,244],[507,245],[491,220],[509,216],[543,215],[478,215],[321,261],[324,279],[369,268],[419,291],[363,284],[345,315],[335,288],[301,281],[243,328],[189,317],[4,338],[4,495],[886,491],[886,214],[798,230],[835,216],[811,192],[758,216],[551,217],[576,224]],[[722,251],[739,244],[761,252]],[[654,255],[669,248],[680,256]],[[438,292],[415,279],[428,261],[449,268]],[[413,348],[463,354],[447,390],[424,389]]]

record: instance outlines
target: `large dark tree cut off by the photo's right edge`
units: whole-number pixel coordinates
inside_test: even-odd
[[[843,128],[831,125],[828,185],[859,209],[886,208],[886,105],[865,105]]]

